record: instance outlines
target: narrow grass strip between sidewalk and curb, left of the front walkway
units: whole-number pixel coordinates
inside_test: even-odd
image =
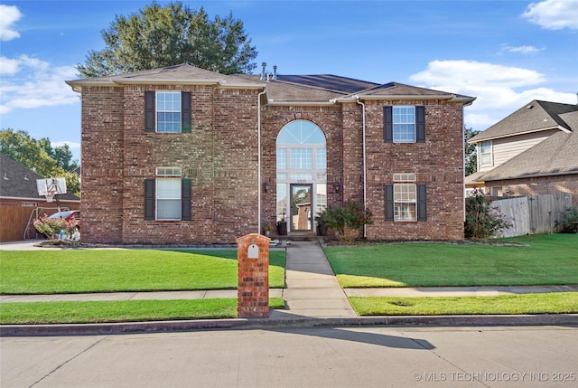
[[[284,308],[283,298],[269,298]],[[119,300],[88,302],[3,303],[2,325],[145,322],[237,317],[237,299]]]

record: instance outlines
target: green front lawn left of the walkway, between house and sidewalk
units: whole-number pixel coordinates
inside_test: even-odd
[[[285,252],[270,251],[269,286],[284,288]],[[2,251],[0,293],[237,289],[237,251]]]

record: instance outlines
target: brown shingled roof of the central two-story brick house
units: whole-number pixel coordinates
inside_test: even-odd
[[[129,83],[210,84],[221,88],[266,89],[269,104],[312,103],[330,105],[336,101],[355,101],[358,98],[458,99],[466,102],[474,100],[468,96],[418,88],[397,82],[381,85],[376,82],[355,80],[332,74],[280,74],[275,76],[275,80],[261,80],[260,75],[225,75],[206,71],[186,63],[149,71],[69,80],[67,83],[77,91],[82,90],[82,87],[85,86],[120,86]]]

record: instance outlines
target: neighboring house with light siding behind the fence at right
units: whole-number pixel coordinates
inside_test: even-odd
[[[472,137],[478,172],[466,192],[578,194],[578,106],[534,100]]]

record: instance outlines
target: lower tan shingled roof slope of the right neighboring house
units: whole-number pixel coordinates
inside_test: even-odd
[[[480,181],[497,181],[548,175],[578,174],[578,109],[560,114],[571,130],[556,132],[536,146],[481,174]]]

